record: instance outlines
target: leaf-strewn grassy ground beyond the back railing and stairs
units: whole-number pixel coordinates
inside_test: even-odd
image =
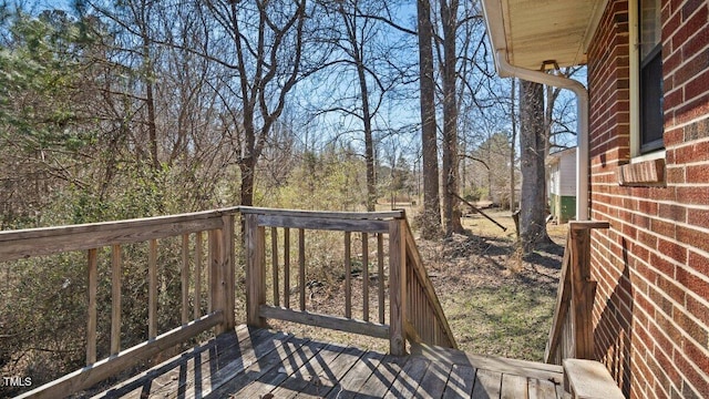
[[[465,235],[443,241],[417,237],[423,264],[460,349],[479,355],[542,360],[556,300],[566,225],[549,224],[547,231],[556,244],[522,257],[515,244],[511,213],[494,208],[484,212],[506,231],[479,214],[467,215],[463,217]],[[353,293],[360,291],[361,279],[354,278],[352,284]],[[308,307],[339,314],[338,309],[343,308],[337,300],[341,297],[339,288],[319,288],[309,298]],[[376,303],[372,291],[370,289]],[[357,300],[354,298],[357,296],[353,296]],[[352,305],[357,308],[359,304]],[[377,309],[371,311],[377,315]],[[382,351],[388,349],[386,340],[277,320],[273,320],[271,326],[299,336]]]

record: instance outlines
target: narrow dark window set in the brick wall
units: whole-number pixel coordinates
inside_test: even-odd
[[[639,0],[637,11],[639,155],[664,147],[665,117],[660,0]]]

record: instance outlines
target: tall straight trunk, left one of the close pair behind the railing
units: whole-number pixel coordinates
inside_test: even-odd
[[[421,152],[423,156],[423,216],[421,236],[432,238],[441,232],[439,198],[439,155],[435,133],[435,82],[433,80],[433,45],[431,3],[417,1],[419,28],[419,68],[421,78]]]

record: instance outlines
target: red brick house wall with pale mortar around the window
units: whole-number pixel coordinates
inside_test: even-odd
[[[631,398],[709,398],[709,4],[662,0],[665,184],[621,186],[629,161],[627,0],[589,49],[596,356]]]

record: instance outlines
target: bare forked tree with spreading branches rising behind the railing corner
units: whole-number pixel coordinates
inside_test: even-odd
[[[215,41],[228,40],[234,59],[218,54],[215,59],[235,76],[229,96],[239,100],[240,112],[228,129],[234,130],[237,165],[242,172],[240,204],[254,204],[254,181],[258,158],[269,140],[271,127],[284,112],[288,93],[302,78],[304,40],[308,19],[307,0],[205,2],[218,29]],[[230,102],[230,100],[229,100]]]

